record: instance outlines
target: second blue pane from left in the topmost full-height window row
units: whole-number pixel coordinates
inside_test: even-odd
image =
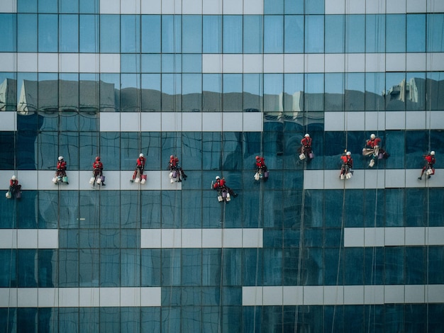
[[[17,51],[37,52],[37,15],[17,14]]]

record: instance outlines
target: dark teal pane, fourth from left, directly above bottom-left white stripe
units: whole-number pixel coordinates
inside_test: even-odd
[[[79,252],[77,249],[59,249],[59,287],[79,286]]]

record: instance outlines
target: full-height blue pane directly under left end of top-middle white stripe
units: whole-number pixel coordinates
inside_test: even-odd
[[[100,16],[100,52],[118,53],[121,50],[121,16]]]

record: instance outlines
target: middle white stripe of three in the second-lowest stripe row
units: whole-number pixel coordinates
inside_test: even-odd
[[[263,246],[263,230],[227,229],[142,229],[143,249],[255,248]]]

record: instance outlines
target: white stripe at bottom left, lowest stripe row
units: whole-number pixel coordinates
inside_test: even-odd
[[[0,288],[0,307],[161,306],[160,287]]]

